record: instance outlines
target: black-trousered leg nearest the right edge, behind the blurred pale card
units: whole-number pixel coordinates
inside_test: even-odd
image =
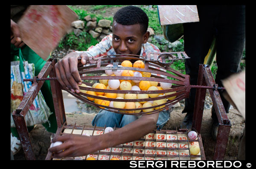
[[[218,70],[215,83],[222,87],[221,80],[234,73],[239,73],[241,57],[245,45],[245,6],[222,6],[217,25],[216,35],[216,62]],[[219,90],[226,113],[230,103],[224,98],[223,91]],[[215,138],[218,133],[218,120],[212,108],[213,130]]]

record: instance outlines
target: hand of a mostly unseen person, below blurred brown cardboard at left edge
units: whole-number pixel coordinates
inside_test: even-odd
[[[20,38],[20,29],[17,23],[11,20],[11,43],[16,48],[21,48],[25,43]]]

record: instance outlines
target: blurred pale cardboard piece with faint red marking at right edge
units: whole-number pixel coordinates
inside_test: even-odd
[[[228,93],[224,95],[225,99],[235,104],[234,107],[245,119],[245,70],[222,80],[222,83]]]

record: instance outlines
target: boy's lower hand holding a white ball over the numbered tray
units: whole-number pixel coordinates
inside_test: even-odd
[[[52,142],[61,141],[63,144],[49,148],[50,152],[54,152],[54,157],[79,157],[96,152],[99,142],[99,136],[85,135],[61,135],[52,139]],[[59,152],[59,153],[58,153]]]

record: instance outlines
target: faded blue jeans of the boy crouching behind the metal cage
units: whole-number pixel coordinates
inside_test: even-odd
[[[157,120],[157,129],[162,129],[162,127],[167,123],[170,118],[170,113],[174,109],[174,106],[170,107],[169,110],[164,110],[159,113]],[[125,125],[140,118],[139,115],[123,115],[118,113],[113,113],[108,110],[100,110],[99,113],[93,118],[92,125],[98,127],[115,127],[121,128]]]

